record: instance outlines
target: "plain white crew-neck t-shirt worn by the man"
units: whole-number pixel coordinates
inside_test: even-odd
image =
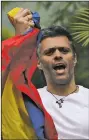
[[[79,86],[79,91],[68,95],[62,108],[47,87],[38,89],[43,105],[51,115],[59,139],[89,139],[89,89]],[[62,96],[55,95],[57,99]]]

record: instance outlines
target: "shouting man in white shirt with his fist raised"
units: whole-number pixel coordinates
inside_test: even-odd
[[[13,23],[16,34],[34,27],[32,14],[28,9],[21,9]],[[46,87],[38,89],[38,93],[45,110],[53,120],[58,139],[88,139],[89,89],[76,85],[74,69],[77,56],[70,33],[60,26],[42,29],[37,59],[37,66],[44,72],[47,83]],[[44,132],[42,112],[37,113],[38,120],[41,120],[40,125],[33,113],[33,102],[30,102],[27,96],[23,97],[36,135],[40,139],[48,138]],[[34,111],[37,111],[36,106]]]

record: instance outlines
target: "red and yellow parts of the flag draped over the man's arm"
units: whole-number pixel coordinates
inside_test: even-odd
[[[31,83],[31,78],[37,68],[36,46],[39,31],[38,28],[34,28],[25,35],[18,35],[2,42],[2,71],[5,72],[8,67],[10,68],[2,94],[3,139],[38,139],[22,93],[27,95],[43,112],[44,137],[58,139],[53,120],[45,110],[37,89]],[[28,64],[27,53],[29,53]],[[27,83],[23,72],[26,73]],[[34,112],[33,118],[35,116]]]

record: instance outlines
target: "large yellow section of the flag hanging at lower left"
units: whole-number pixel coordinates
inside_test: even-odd
[[[22,94],[8,76],[2,96],[3,139],[37,139]]]

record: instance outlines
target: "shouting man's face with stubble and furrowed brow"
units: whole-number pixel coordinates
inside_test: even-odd
[[[75,57],[66,36],[48,37],[41,42],[39,65],[46,81],[68,84],[74,76]]]

